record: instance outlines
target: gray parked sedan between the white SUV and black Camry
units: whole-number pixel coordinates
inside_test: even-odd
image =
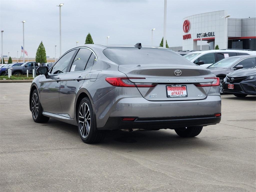
[[[220,78],[220,93],[223,92],[224,78],[237,69],[248,69],[256,65],[256,56],[240,55],[227,57],[207,67],[216,77]]]

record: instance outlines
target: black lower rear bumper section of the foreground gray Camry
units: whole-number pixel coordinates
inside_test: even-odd
[[[165,118],[137,118],[134,121],[123,121],[124,117],[110,117],[104,127],[98,127],[98,130],[116,130],[116,129],[176,129],[180,127],[207,126],[220,122],[221,116],[196,115],[196,116],[178,116]]]

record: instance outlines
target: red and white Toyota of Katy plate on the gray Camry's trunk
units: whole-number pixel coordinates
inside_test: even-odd
[[[166,86],[167,97],[187,97],[186,85],[167,85]]]

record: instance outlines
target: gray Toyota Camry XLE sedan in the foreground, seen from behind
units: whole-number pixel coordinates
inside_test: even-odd
[[[37,73],[29,94],[34,121],[77,125],[85,143],[116,129],[194,137],[221,119],[219,78],[170,49],[84,45]]]

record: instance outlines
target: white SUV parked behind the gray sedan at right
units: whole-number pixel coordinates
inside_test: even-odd
[[[246,49],[221,49],[208,51],[195,51],[184,56],[187,60],[200,65],[202,67],[209,67],[223,58],[237,55],[256,55],[256,51]]]

